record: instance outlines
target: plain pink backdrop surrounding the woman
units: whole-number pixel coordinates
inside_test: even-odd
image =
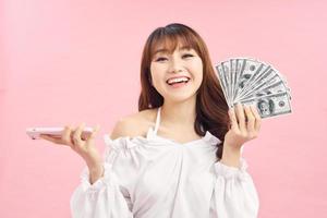
[[[86,122],[102,135],[137,111],[140,60],[150,32],[196,29],[214,63],[254,57],[288,78],[293,113],[264,120],[245,144],[259,217],[327,214],[326,1],[2,0],[0,217],[70,217],[84,162],[32,141],[29,126]]]

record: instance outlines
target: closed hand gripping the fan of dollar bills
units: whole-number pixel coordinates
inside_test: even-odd
[[[262,118],[254,105],[243,107],[237,104],[237,107],[229,109],[228,113],[231,128],[225,135],[223,147],[229,146],[232,150],[239,150],[245,142],[257,137]]]

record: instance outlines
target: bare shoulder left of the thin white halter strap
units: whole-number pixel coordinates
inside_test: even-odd
[[[155,122],[156,110],[147,109],[121,118],[116,122],[110,138],[146,136],[147,130]]]

